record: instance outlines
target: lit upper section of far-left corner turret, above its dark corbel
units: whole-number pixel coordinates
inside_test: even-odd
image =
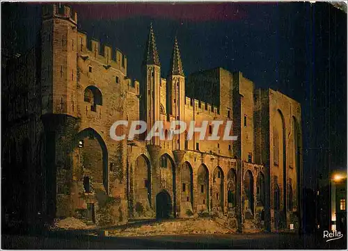
[[[77,114],[77,13],[69,6],[42,8],[42,114]]]

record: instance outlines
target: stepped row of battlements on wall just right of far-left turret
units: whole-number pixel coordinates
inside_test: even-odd
[[[87,40],[87,34],[83,31],[77,32],[77,51],[84,60],[98,60],[104,67],[112,67],[120,70],[127,76],[127,56],[122,54],[120,49],[112,49],[109,45],[102,43],[94,38]]]

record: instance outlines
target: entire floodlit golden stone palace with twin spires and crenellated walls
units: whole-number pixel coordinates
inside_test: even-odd
[[[210,214],[239,231],[301,227],[301,106],[294,99],[256,90],[241,72],[221,67],[185,77],[176,38],[162,78],[152,26],[139,62],[143,79],[129,79],[127,57],[87,41],[68,6],[42,8],[39,41],[2,66],[8,224]],[[182,133],[116,141],[109,131],[117,120],[145,120],[148,129],[158,120],[232,120],[238,139]]]

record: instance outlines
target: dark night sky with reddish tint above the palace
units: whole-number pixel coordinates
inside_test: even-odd
[[[347,15],[329,3],[74,3],[78,26],[127,55],[140,79],[153,23],[166,77],[177,35],[185,74],[239,70],[256,88],[302,105],[304,184],[347,168]],[[2,47],[20,52],[40,31],[36,3],[2,5]]]

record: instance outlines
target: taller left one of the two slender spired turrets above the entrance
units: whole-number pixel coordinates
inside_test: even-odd
[[[141,84],[141,120],[148,124],[148,131],[159,121],[161,64],[155,42],[155,34],[150,24],[148,42],[142,65],[143,81]],[[153,137],[151,145],[159,145],[159,138]]]

